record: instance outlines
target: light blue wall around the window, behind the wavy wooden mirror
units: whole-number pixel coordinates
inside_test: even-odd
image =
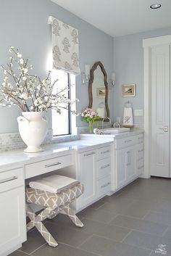
[[[49,15],[78,28],[80,41],[80,70],[86,64],[101,61],[110,75],[113,70],[113,38],[92,25],[72,15],[50,0],[3,0],[0,3],[0,65],[8,62],[9,46],[15,46],[30,59],[36,74],[46,76],[46,62],[51,51],[51,30],[47,24]],[[1,82],[2,76],[0,77]],[[76,80],[76,96],[80,99],[78,111],[88,106],[88,87]],[[109,95],[109,107],[113,116],[113,96]],[[0,133],[17,132],[16,107],[0,108]],[[49,123],[51,115],[49,112]],[[84,125],[77,117],[77,125]]]

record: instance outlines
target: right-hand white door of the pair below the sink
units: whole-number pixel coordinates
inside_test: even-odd
[[[127,181],[133,180],[136,177],[135,169],[135,146],[130,146],[125,149],[125,165]]]

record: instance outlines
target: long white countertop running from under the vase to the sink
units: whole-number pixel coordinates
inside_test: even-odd
[[[80,139],[76,141],[66,141],[57,144],[47,144],[42,146],[43,152],[38,153],[25,153],[23,149],[12,150],[0,153],[0,172],[4,168],[15,168],[31,162],[46,160],[62,154],[68,154],[74,150],[79,152],[85,152],[87,150],[94,149],[99,146],[106,146],[114,139],[125,138],[127,136],[134,136],[143,133],[143,131],[130,131],[128,133],[116,133],[116,134],[82,134]]]

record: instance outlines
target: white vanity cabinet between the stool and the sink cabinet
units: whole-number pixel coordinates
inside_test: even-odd
[[[77,154],[77,178],[85,191],[78,199],[76,210],[81,210],[111,190],[111,145]]]

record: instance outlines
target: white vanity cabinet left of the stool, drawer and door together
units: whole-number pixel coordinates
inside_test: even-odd
[[[23,168],[0,173],[0,255],[6,256],[26,240]]]

